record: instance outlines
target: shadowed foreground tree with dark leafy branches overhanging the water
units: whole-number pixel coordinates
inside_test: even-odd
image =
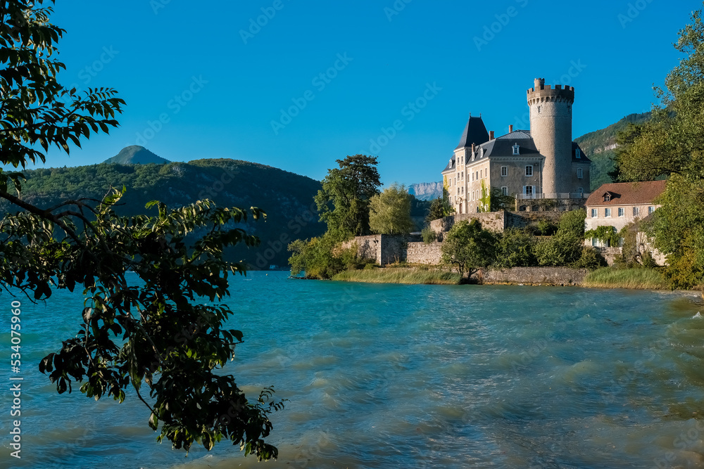
[[[51,8],[43,3],[0,6],[4,165],[44,162],[49,146],[68,153],[71,143],[108,133],[125,104],[113,89],[81,95],[57,82],[65,67],[56,60],[56,44],[64,31],[49,23]],[[226,262],[222,252],[256,245],[257,238],[231,227],[263,212],[201,200],[175,209],[154,202],[147,207],[157,210],[153,216],[120,217],[113,207],[124,191],[38,207],[18,197],[20,179],[0,172],[0,198],[19,210],[0,221],[0,285],[34,300],[57,288],[86,295],[77,333],[39,364],[58,392],[81,383],[87,397],[123,401],[133,387],[149,409],[145,422],[153,430],[161,423],[159,441],[211,449],[225,438],[245,454],[275,458],[277,449],[264,438],[272,429],[268,414],[282,403],[271,400],[271,388],[248,401],[234,377],[218,370],[243,337],[225,328],[232,311],[220,300],[229,295],[228,276],[244,274],[245,266]],[[127,272],[137,274],[138,286]]]

